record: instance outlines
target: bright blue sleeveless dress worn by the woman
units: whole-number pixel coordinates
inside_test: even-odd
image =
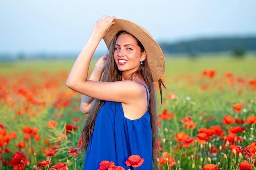
[[[147,89],[146,92],[148,99]],[[113,161],[115,166],[134,170],[125,164],[130,155],[144,158],[136,170],[153,170],[150,115],[146,111],[141,118],[130,120],[124,117],[121,103],[106,101],[96,117],[83,170],[98,170],[101,161]]]

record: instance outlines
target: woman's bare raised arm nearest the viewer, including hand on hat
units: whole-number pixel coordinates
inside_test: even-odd
[[[70,71],[66,85],[72,90],[92,98],[132,104],[144,97],[145,89],[143,86],[141,87],[141,84],[130,80],[99,82],[87,79],[92,55],[110,26],[115,24],[114,19],[115,17],[103,16],[95,23],[89,40]]]

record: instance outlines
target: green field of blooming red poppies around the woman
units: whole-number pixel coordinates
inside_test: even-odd
[[[83,168],[79,146],[87,115],[79,110],[81,95],[65,86],[73,63],[0,63],[1,170]],[[159,155],[154,169],[256,168],[255,66],[255,56],[166,57],[162,104],[155,84]],[[133,170],[143,160],[131,155],[125,163]],[[124,169],[107,160],[99,166]]]

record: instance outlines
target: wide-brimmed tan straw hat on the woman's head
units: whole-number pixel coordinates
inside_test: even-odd
[[[134,35],[144,46],[153,82],[158,81],[164,74],[165,61],[164,54],[157,42],[153,40],[152,36],[146,29],[133,22],[122,19],[115,19],[113,22],[115,22],[115,24],[110,27],[103,38],[108,48],[111,40],[119,31],[126,31]]]

